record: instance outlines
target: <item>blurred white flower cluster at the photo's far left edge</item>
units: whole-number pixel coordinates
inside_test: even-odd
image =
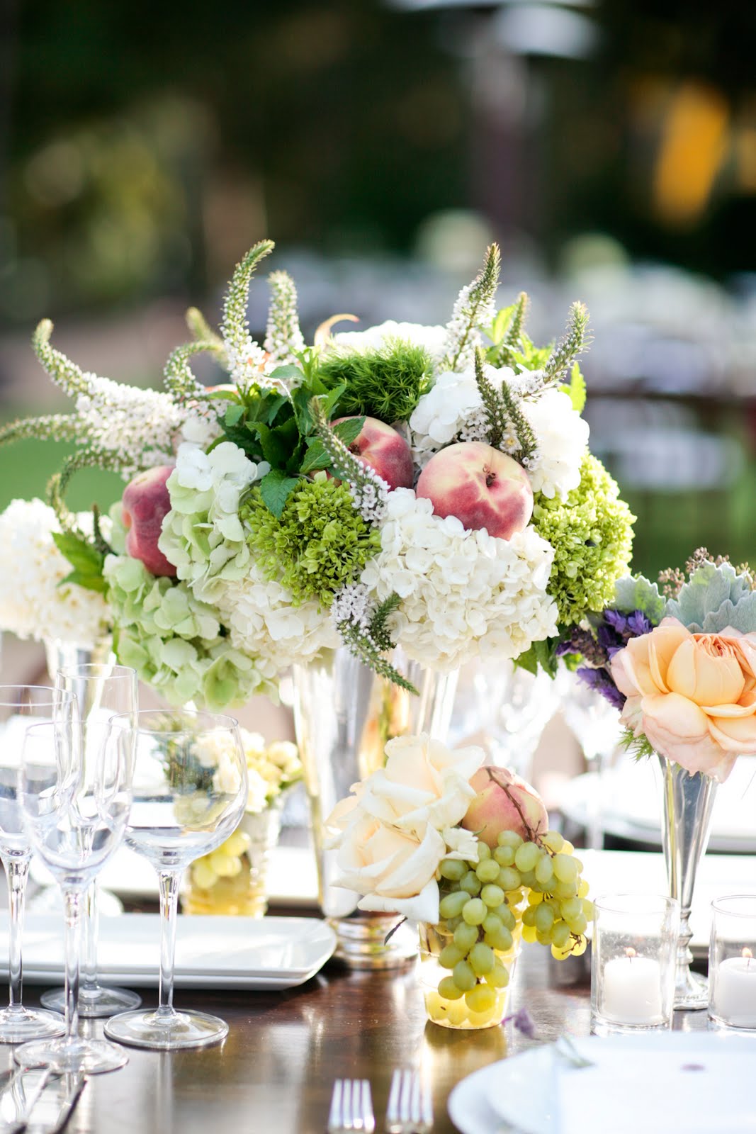
[[[92,532],[91,513],[76,522]],[[12,500],[0,515],[0,627],[37,642],[57,638],[91,648],[108,631],[108,604],[95,591],[59,585],[71,570],[52,539],[59,531],[54,511],[42,500]]]

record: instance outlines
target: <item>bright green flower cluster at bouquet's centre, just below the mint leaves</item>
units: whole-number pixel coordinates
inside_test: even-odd
[[[318,473],[291,491],[280,519],[254,488],[241,507],[248,543],[265,578],[288,587],[292,604],[314,599],[330,607],[381,549],[380,533],[355,509],[349,489]]]

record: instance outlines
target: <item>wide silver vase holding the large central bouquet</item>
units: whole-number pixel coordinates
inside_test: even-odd
[[[357,909],[359,897],[333,886],[335,852],[324,846],[324,820],[358,780],[381,768],[387,741],[449,729],[457,672],[402,665],[419,696],[407,693],[339,648],[320,665],[294,667],[294,719],[309,797],[321,908],[338,937],[337,956],[354,968],[390,968],[417,954],[417,934],[399,915]]]

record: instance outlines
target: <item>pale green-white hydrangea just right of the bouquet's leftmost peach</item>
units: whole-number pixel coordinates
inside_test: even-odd
[[[168,479],[171,511],[158,545],[202,602],[213,602],[224,582],[247,573],[250,552],[239,501],[267,468],[264,462],[249,460],[232,441],[222,441],[210,452],[195,445],[179,446]]]

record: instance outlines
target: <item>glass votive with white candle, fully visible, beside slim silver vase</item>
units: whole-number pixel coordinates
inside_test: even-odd
[[[594,907],[592,1031],[670,1027],[680,904],[656,894],[608,894]]]

